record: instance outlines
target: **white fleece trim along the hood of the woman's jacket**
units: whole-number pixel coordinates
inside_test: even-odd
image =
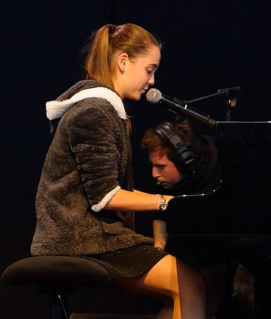
[[[120,96],[115,94],[115,92],[111,91],[110,89],[100,86],[79,91],[78,93],[74,94],[74,96],[72,96],[69,100],[47,102],[47,118],[49,118],[49,120],[54,120],[54,118],[61,118],[63,113],[65,113],[67,109],[73,106],[74,103],[91,97],[106,99],[114,106],[118,116],[120,116],[120,118],[123,118],[124,120],[126,119],[125,107],[122,103],[122,99],[120,99]]]

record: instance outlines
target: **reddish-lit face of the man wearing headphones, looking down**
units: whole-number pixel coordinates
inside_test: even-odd
[[[159,150],[151,151],[149,152],[149,160],[152,164],[152,177],[161,186],[170,189],[183,179],[183,175],[165,153]]]

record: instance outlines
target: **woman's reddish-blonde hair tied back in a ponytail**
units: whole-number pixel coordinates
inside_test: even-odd
[[[95,79],[114,89],[115,57],[126,52],[131,60],[147,54],[151,45],[161,49],[161,42],[144,28],[132,23],[107,24],[96,30],[86,45],[86,79]]]

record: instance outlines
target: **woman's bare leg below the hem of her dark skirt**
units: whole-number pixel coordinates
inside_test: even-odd
[[[205,318],[205,283],[202,275],[170,254],[146,274],[120,278],[116,283],[128,289],[144,289],[170,297],[173,300],[173,310],[171,303],[167,302],[157,318]]]

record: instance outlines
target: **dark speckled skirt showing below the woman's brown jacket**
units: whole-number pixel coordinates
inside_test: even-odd
[[[116,279],[144,274],[167,254],[168,252],[152,245],[138,245],[115,252],[84,256],[84,258],[102,264],[111,278]]]

